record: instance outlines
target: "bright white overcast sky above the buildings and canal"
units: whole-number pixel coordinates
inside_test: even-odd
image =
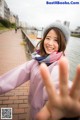
[[[80,0],[55,0],[79,2],[79,4],[46,4],[53,0],[5,0],[19,20],[35,27],[45,27],[56,20],[69,21],[70,29],[80,26]]]

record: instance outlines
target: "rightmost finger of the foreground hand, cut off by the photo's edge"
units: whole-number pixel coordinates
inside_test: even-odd
[[[80,99],[80,65],[78,65],[76,70],[76,76],[73,81],[73,86],[71,88],[70,95],[74,99]]]

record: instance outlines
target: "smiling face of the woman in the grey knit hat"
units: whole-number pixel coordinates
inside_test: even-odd
[[[47,54],[57,52],[59,48],[57,34],[54,30],[50,30],[44,40],[44,49]]]

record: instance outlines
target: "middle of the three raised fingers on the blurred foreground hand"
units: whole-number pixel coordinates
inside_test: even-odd
[[[68,95],[69,65],[66,58],[59,60],[60,94]]]

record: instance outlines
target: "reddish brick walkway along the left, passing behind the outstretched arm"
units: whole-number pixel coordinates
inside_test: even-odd
[[[21,42],[20,30],[17,33],[12,30],[0,34],[0,75],[28,61]],[[15,90],[0,95],[0,108],[11,107],[12,120],[29,120],[28,92],[29,82],[26,82]]]

